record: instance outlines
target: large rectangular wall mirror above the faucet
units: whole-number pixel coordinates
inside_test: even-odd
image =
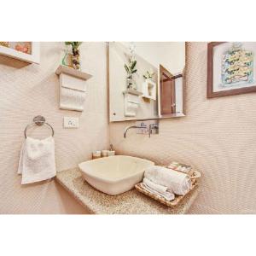
[[[110,122],[184,116],[184,42],[108,44]]]

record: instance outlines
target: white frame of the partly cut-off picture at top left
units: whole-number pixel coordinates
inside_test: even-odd
[[[1,42],[5,43],[5,42]],[[9,42],[6,42],[9,43]],[[12,42],[10,42],[12,43]],[[22,43],[22,42],[21,42]],[[15,58],[20,61],[26,61],[28,63],[36,63],[40,62],[40,43],[39,42],[27,42],[31,45],[31,53],[25,53],[20,50],[3,46],[0,44],[0,55],[6,55],[11,58]]]

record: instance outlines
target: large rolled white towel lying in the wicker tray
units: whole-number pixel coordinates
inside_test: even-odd
[[[172,189],[172,192],[176,195],[185,195],[192,187],[191,180],[187,174],[162,166],[149,167],[145,171],[144,177],[147,177],[153,183]]]

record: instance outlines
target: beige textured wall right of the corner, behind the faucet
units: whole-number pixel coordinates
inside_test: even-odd
[[[207,44],[191,43],[187,55],[187,116],[160,121],[150,139],[112,123],[110,141],[119,154],[159,164],[172,160],[202,172],[201,195],[191,213],[256,213],[256,95],[208,100]]]

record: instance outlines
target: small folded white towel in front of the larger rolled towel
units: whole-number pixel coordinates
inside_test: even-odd
[[[160,195],[164,197],[167,201],[172,201],[175,198],[172,190],[165,186],[151,182],[147,177],[143,178],[143,188],[153,193],[154,195]]]

